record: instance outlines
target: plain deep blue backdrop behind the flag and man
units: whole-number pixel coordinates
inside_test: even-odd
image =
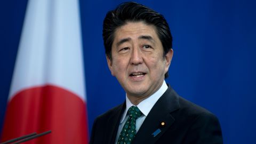
[[[106,12],[121,2],[80,2],[90,131],[95,117],[125,98],[108,70],[101,36]],[[169,22],[174,57],[166,82],[218,116],[225,143],[256,143],[256,1],[137,2]],[[26,5],[27,0],[0,5],[0,130]]]

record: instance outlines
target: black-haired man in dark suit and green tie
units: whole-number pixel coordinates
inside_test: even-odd
[[[126,100],[95,119],[90,143],[222,143],[218,119],[164,81],[173,50],[163,15],[123,3],[107,13],[103,40]]]

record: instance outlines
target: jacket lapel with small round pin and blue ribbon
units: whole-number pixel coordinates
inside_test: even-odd
[[[150,110],[132,143],[155,143],[175,121],[170,113],[177,109],[179,109],[179,98],[169,86]],[[161,126],[162,122],[164,122],[163,126]]]

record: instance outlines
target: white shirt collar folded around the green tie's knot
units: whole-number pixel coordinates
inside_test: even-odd
[[[163,82],[162,86],[160,87],[160,89],[158,89],[154,94],[150,95],[150,97],[148,97],[147,99],[141,101],[137,107],[140,109],[141,113],[145,116],[148,115],[149,111],[153,108],[153,106],[155,105],[155,103],[157,102],[157,100],[164,94],[164,92],[168,89],[167,84],[165,83],[165,81]],[[127,98],[127,94],[126,94],[126,109],[123,113],[123,116],[121,118],[120,123],[122,123],[125,119],[125,116],[127,115],[127,111],[128,109],[134,106],[132,104],[132,102],[129,100],[129,98]]]

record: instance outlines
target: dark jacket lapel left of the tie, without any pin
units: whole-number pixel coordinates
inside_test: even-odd
[[[118,126],[125,109],[125,102],[113,111],[107,119],[106,143],[115,143]]]

